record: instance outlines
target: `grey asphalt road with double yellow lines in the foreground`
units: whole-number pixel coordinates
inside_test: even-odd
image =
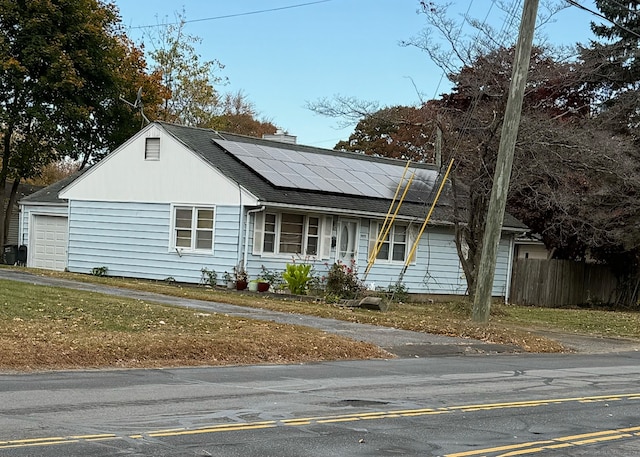
[[[2,456],[640,455],[640,354],[0,375]]]

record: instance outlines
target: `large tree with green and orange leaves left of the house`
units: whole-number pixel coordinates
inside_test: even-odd
[[[0,0],[0,200],[60,157],[85,160],[136,128],[120,95],[151,91],[142,54],[100,0]],[[11,195],[4,195],[8,180]],[[10,208],[10,205],[7,205]],[[0,224],[0,246],[8,217]]]

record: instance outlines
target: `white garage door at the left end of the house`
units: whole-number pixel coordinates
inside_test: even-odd
[[[47,270],[67,267],[67,218],[34,216],[29,266]]]

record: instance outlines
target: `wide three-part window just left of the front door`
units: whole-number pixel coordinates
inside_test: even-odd
[[[318,255],[320,218],[294,213],[265,213],[262,252]]]

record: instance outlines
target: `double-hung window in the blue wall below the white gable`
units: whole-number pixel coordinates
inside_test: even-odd
[[[213,207],[175,206],[173,246],[188,251],[213,249]]]

